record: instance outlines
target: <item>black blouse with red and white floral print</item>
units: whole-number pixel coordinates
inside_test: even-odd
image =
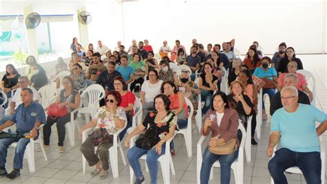
[[[142,125],[146,127],[146,136],[160,138],[161,140],[169,133],[171,126],[177,126],[177,116],[172,111],[168,111],[165,118],[159,122],[155,122],[155,116],[157,116],[157,111],[150,111]],[[178,128],[176,127],[176,129]]]

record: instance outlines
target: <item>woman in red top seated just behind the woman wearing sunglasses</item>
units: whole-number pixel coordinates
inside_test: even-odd
[[[121,133],[119,134],[119,140],[123,140],[123,136],[125,135],[127,129],[129,127],[132,127],[132,117],[134,116],[133,105],[135,102],[135,95],[132,92],[125,90],[127,89],[127,84],[121,76],[117,76],[114,78],[114,86],[115,90],[120,93],[122,99],[119,107],[123,107],[123,110],[126,112],[127,125],[126,128],[123,129],[123,131],[121,131]]]

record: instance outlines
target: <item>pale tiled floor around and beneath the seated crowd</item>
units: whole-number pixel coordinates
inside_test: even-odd
[[[315,75],[317,82],[317,103],[319,109],[327,111],[327,55],[298,55],[304,62],[304,68]],[[266,100],[268,101],[268,100]],[[81,152],[79,145],[70,147],[68,138],[66,138],[65,153],[60,154],[57,151],[57,130],[52,129],[52,140],[50,149],[47,150],[48,161],[43,159],[41,152],[35,151],[36,171],[30,173],[27,160],[24,160],[21,176],[10,181],[8,178],[0,178],[0,183],[130,183],[129,167],[123,166],[121,156],[119,155],[119,178],[112,178],[110,170],[108,178],[99,179],[99,176],[91,177],[91,168],[87,168],[85,175],[82,173]],[[266,148],[270,133],[270,117],[263,122],[261,127],[261,139],[257,146],[252,146],[252,160],[250,163],[244,163],[244,183],[270,183],[270,175],[267,169],[268,158]],[[76,136],[77,137],[77,136]],[[197,141],[199,140],[199,131],[194,127],[192,131],[192,157],[188,158],[184,138],[177,136],[175,138],[175,147],[177,154],[173,157],[176,175],[170,174],[170,183],[196,183],[196,165],[197,165]],[[327,141],[327,134],[324,134],[324,140]],[[76,138],[76,142],[79,142]],[[39,147],[36,146],[35,149]],[[127,149],[124,149],[126,155]],[[12,170],[14,149],[10,148],[8,152],[7,169]],[[144,163],[143,173],[146,176],[146,183],[149,183],[149,175],[146,172]],[[327,171],[326,171],[327,173]],[[286,174],[289,183],[306,183],[303,176],[299,174]],[[326,175],[326,174],[325,174]],[[214,179],[210,183],[219,183],[220,171],[214,169]],[[159,183],[163,183],[161,171],[159,169]],[[235,183],[232,176],[231,183]]]

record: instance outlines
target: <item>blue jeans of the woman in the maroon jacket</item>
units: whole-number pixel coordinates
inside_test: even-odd
[[[200,181],[201,184],[206,184],[209,182],[210,171],[212,165],[216,160],[219,160],[221,171],[220,171],[220,183],[228,184],[230,183],[230,166],[239,156],[239,149],[234,151],[234,153],[229,155],[216,155],[210,153],[208,147],[204,150],[204,156],[202,157],[202,165],[200,171]]]

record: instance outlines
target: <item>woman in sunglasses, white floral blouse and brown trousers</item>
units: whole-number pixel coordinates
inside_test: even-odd
[[[100,107],[94,118],[88,124],[79,130],[79,138],[82,132],[88,128],[105,128],[109,136],[106,136],[101,142],[95,142],[94,135],[91,134],[81,145],[81,152],[88,160],[88,165],[95,165],[91,176],[100,174],[100,178],[107,178],[109,169],[109,148],[112,146],[113,134],[122,129],[126,123],[126,114],[123,107],[119,107],[121,95],[118,91],[109,91],[106,95],[106,105]],[[95,154],[95,144],[98,145]],[[100,169],[100,166],[102,167]]]

